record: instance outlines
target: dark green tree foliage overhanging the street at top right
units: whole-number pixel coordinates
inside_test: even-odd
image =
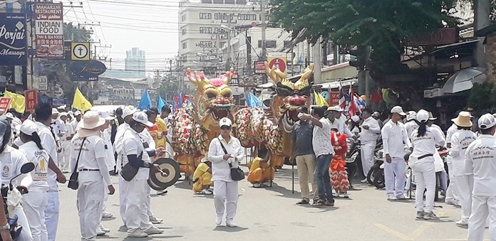
[[[404,39],[443,26],[455,26],[449,16],[454,0],[269,0],[275,26],[297,41],[316,43],[319,37],[350,48],[371,46],[378,72],[400,65]]]

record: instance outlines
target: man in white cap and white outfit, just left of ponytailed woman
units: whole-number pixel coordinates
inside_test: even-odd
[[[391,108],[391,119],[384,124],[381,135],[384,146],[384,179],[388,200],[404,199],[406,164],[403,145],[411,149],[410,138],[401,119],[406,115],[403,108]]]

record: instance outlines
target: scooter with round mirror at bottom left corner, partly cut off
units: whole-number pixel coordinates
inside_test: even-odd
[[[7,217],[7,222],[10,225],[10,233],[12,240],[18,240],[21,235],[22,226],[17,222],[18,217],[15,215],[16,206],[22,200],[22,195],[28,193],[26,188],[17,188],[12,185],[12,181],[22,174],[30,173],[34,170],[34,164],[28,162],[21,166],[21,174],[14,176],[9,182],[9,186],[1,186],[1,196],[4,198],[4,209]],[[1,241],[0,237],[0,241]]]

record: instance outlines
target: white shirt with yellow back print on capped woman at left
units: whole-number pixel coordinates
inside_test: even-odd
[[[31,171],[33,184],[29,186],[29,191],[39,193],[48,191],[48,183],[46,181],[48,160],[50,159],[48,152],[39,149],[34,141],[29,141],[28,143],[19,146],[19,151],[26,156],[27,161],[34,164],[34,170]]]

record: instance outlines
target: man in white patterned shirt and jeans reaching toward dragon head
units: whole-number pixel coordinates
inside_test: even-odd
[[[333,107],[329,107],[334,111]],[[331,163],[334,149],[331,143],[331,124],[329,119],[324,117],[324,109],[316,107],[313,109],[313,115],[303,114],[300,119],[303,121],[310,120],[314,125],[312,136],[312,145],[316,156],[316,165],[314,179],[319,190],[319,201],[314,202],[314,206],[334,205],[332,196],[331,178],[329,177],[329,164]]]

